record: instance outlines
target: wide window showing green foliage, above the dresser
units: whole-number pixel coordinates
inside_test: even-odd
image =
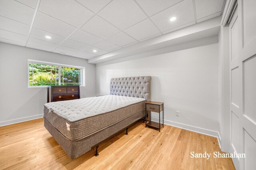
[[[28,60],[28,86],[84,84],[84,67]]]

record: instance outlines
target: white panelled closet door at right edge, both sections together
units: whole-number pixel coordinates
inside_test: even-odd
[[[230,153],[241,170],[256,169],[256,0],[238,0],[230,22]]]

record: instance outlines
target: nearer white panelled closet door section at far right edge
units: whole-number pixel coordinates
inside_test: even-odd
[[[238,0],[238,64],[242,84],[239,137],[241,152],[240,169],[256,167],[256,1]]]

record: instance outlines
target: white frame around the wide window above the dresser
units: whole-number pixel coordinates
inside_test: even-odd
[[[81,66],[72,66],[72,65],[67,65],[67,64],[58,64],[58,63],[50,63],[50,62],[45,62],[45,61],[36,61],[36,60],[28,60],[28,88],[45,88],[48,86],[30,86],[29,85],[29,64],[34,63],[34,64],[46,64],[46,65],[52,65],[52,66],[58,66],[59,69],[61,66],[63,67],[71,67],[71,68],[79,68],[80,69],[80,86],[85,86],[85,67]],[[60,74],[60,72],[59,72]],[[61,85],[62,86],[62,85]]]

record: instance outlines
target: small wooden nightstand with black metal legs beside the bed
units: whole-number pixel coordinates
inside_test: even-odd
[[[152,102],[152,101],[146,102],[145,115],[147,115],[148,111],[154,111],[156,113],[159,113],[159,123],[151,121],[151,119],[150,119],[150,121],[148,123],[146,121],[146,127],[147,126],[154,127],[154,128],[159,129],[159,131],[160,131],[161,127],[164,127],[164,103],[163,102]],[[161,111],[163,111],[163,123],[160,123],[160,112]]]

